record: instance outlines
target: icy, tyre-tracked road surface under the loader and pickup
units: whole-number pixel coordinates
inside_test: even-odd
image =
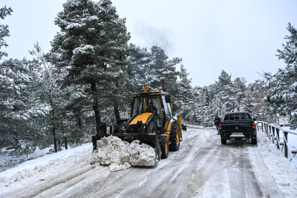
[[[188,131],[183,131],[180,150],[169,152],[169,157],[161,159],[155,167],[131,167],[118,172],[110,172],[108,166],[91,165],[92,148],[89,146],[76,157],[65,156],[63,163],[57,160],[46,167],[35,167],[36,173],[32,175],[28,170],[29,176],[19,173],[10,184],[7,179],[4,189],[0,189],[0,197],[284,197],[257,145],[246,139],[227,140],[227,144],[222,145],[216,133],[212,129],[188,127]]]

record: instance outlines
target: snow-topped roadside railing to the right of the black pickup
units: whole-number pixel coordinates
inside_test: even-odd
[[[270,139],[272,143],[281,151],[281,153],[285,155],[285,157],[288,158],[288,153],[291,155],[291,160],[293,160],[295,167],[297,168],[296,161],[294,159],[295,155],[297,154],[297,151],[291,151],[289,143],[288,143],[288,133],[297,135],[297,132],[286,130],[281,127],[268,124],[266,122],[258,121],[257,124],[257,130],[265,132],[267,137]],[[280,141],[280,131],[283,133],[284,141]],[[284,149],[285,148],[285,149]],[[284,150],[284,152],[283,152]],[[293,155],[294,154],[294,155]]]

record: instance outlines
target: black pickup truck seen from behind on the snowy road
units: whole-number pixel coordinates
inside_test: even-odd
[[[252,144],[257,144],[257,131],[254,121],[249,112],[229,112],[226,113],[220,124],[220,136],[222,144],[227,143],[227,139],[251,139]]]

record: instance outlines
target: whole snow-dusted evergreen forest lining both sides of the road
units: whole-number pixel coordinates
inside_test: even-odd
[[[12,8],[0,8],[3,21],[11,14]],[[291,24],[276,55],[285,68],[259,73],[249,84],[222,70],[201,87],[191,86],[182,58],[169,58],[159,46],[129,43],[126,18],[111,0],[67,0],[54,23],[60,31],[50,51],[35,43],[22,60],[5,59],[9,28],[0,24],[1,149],[21,155],[50,147],[54,153],[91,142],[101,123],[128,117],[131,94],[145,83],[168,92],[173,114],[185,121],[212,124],[216,114],[249,111],[253,117],[290,115],[297,128],[297,29]]]

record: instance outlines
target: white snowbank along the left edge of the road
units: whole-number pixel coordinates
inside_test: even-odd
[[[19,189],[23,185],[43,181],[46,178],[61,173],[66,167],[90,155],[92,149],[92,143],[87,143],[26,161],[15,168],[3,171],[0,173],[0,192],[4,194],[5,192]],[[90,159],[85,164],[90,164]]]

